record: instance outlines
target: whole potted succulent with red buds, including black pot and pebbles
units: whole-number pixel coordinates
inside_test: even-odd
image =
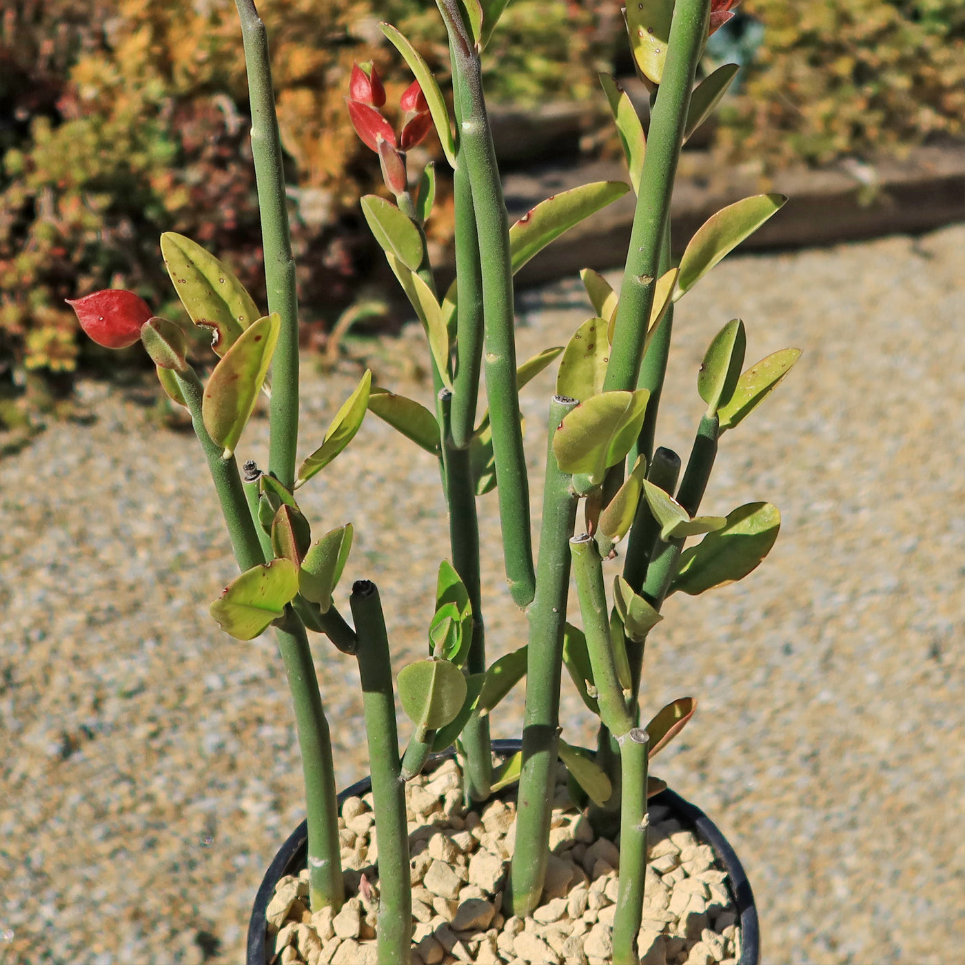
[[[687,723],[696,702],[682,698],[649,717],[638,700],[648,633],[667,595],[741,579],[766,556],[780,526],[766,503],[726,516],[701,515],[700,506],[721,435],[781,381],[797,350],[745,369],[743,322],[728,321],[697,375],[706,409],[685,465],[655,445],[676,301],[784,202],[760,195],[723,209],[672,262],[668,212],[679,151],[736,70],[716,69],[695,82],[707,36],[731,15],[731,3],[628,7],[635,61],[651,92],[646,133],[620,87],[600,79],[629,183],[588,184],[548,198],[511,227],[480,67],[505,0],[437,0],[440,39],[452,57],[451,106],[418,51],[382,24],[415,76],[400,100],[405,123],[397,134],[383,116],[386,95],[371,64],[352,71],[347,108],[379,156],[389,197],[371,195],[362,207],[424,326],[434,397],[428,404],[403,398],[372,385],[366,372],[300,462],[294,263],[267,41],[252,0],[236,4],[267,314],[226,265],[177,234],[163,235],[161,250],[188,316],[213,332],[219,361],[207,381],[188,362],[179,323],[153,317],[135,294],[105,290],[71,304],[100,344],[140,340],[164,389],[189,410],[240,569],[211,615],[239,640],[273,627],[288,675],[307,820],[262,884],[249,961],[756,961],[750,888],[730,847],[703,814],[648,773],[649,759]],[[406,151],[433,129],[454,172],[456,277],[446,292],[435,287],[424,231],[434,170],[406,163]],[[593,316],[566,345],[517,364],[514,272],[631,190],[637,213],[620,289],[584,271]],[[548,400],[534,559],[518,393],[551,364],[558,374]],[[262,392],[269,397],[268,462],[239,467],[235,451]],[[371,582],[353,585],[351,619],[345,616],[338,585],[351,525],[313,532],[298,506],[298,489],[345,449],[369,411],[438,461],[451,522],[427,657],[396,676]],[[493,489],[510,593],[530,635],[525,647],[491,661],[477,500]],[[695,537],[700,541],[685,548]],[[567,621],[571,576],[582,628]],[[359,666],[371,777],[342,795],[310,633]],[[599,716],[593,751],[561,735],[564,667]],[[494,742],[490,712],[523,682],[522,740]],[[401,750],[397,697],[412,721]]]

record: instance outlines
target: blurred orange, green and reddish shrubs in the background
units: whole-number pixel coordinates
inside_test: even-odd
[[[769,166],[823,163],[962,133],[961,0],[746,0],[741,11],[708,46],[708,66],[744,68],[712,150]],[[374,59],[389,104],[398,102],[411,78],[378,30],[386,19],[445,89],[444,32],[434,6],[414,0],[263,0],[261,12],[305,341],[320,345],[333,319],[366,297],[372,268],[356,202],[377,190],[378,167],[348,124],[348,71]],[[487,93],[517,104],[599,100],[595,72],[620,65],[621,33],[617,5],[513,0],[488,51]],[[30,372],[69,384],[78,362],[96,365],[65,297],[123,286],[158,314],[179,313],[162,231],[218,254],[264,306],[233,3],[7,0],[0,61],[0,403]],[[431,222],[443,243],[449,204],[443,189]],[[0,422],[11,411],[0,404]]]

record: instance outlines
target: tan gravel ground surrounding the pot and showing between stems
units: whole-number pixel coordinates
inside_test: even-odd
[[[771,558],[744,583],[671,598],[646,700],[701,708],[659,776],[731,837],[771,963],[961,960],[965,786],[965,226],[918,240],[732,258],[680,303],[659,441],[681,452],[696,367],[739,315],[748,357],[798,345],[786,383],[725,436],[703,509],[768,499]],[[519,351],[588,314],[559,284],[520,297]],[[422,336],[372,349],[376,377],[426,398]],[[306,367],[308,368],[308,367]],[[306,372],[317,444],[358,372]],[[534,493],[548,373],[526,390]],[[223,635],[231,577],[194,440],[87,383],[97,419],[51,425],[2,466],[0,961],[238,961],[252,897],[302,817],[284,678],[268,636]],[[240,455],[263,460],[265,421]],[[393,483],[391,499],[382,484]],[[348,580],[379,583],[400,655],[421,653],[446,523],[429,456],[370,418],[304,490],[350,519]],[[482,503],[492,655],[524,620]],[[339,779],[365,770],[357,673],[318,638]],[[591,722],[566,684],[566,736]],[[517,733],[518,701],[497,715]]]

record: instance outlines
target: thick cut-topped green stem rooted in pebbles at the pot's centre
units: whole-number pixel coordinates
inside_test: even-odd
[[[516,850],[508,897],[513,915],[529,915],[539,903],[549,854],[560,739],[560,675],[569,590],[569,538],[579,501],[571,477],[557,465],[553,436],[577,401],[554,397],[549,407],[549,445],[539,537],[537,595],[529,609],[530,635],[523,718],[523,762],[516,813]]]

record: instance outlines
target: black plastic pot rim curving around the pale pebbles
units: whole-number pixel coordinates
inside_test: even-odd
[[[494,740],[493,752],[500,757],[508,758],[521,747],[518,740]],[[432,760],[436,763],[453,756],[453,752],[437,755]],[[431,767],[430,762],[427,767]],[[347,787],[339,795],[341,805],[345,798],[361,797],[372,790],[369,778]],[[654,823],[666,820],[668,817],[676,819],[687,828],[693,830],[698,839],[709,844],[718,860],[727,869],[728,886],[737,906],[740,917],[740,959],[738,965],[759,965],[760,961],[760,931],[758,928],[758,907],[754,903],[751,883],[740,864],[737,855],[729,841],[721,834],[717,825],[689,801],[685,801],[679,794],[668,788],[650,798],[650,820]],[[267,927],[265,911],[268,902],[275,894],[275,885],[286,874],[298,874],[305,868],[308,861],[308,831],[304,821],[298,825],[295,832],[286,841],[278,854],[275,855],[268,870],[264,873],[261,887],[255,896],[255,904],[251,910],[251,920],[248,923],[248,956],[247,965],[266,965],[269,955],[266,953]]]

